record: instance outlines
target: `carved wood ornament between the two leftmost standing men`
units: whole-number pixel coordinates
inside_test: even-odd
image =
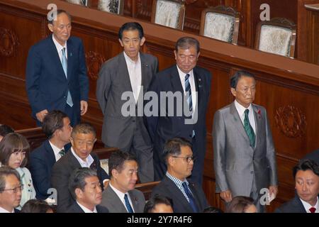
[[[103,57],[98,52],[89,51],[85,54],[87,71],[90,79],[98,79],[99,69],[103,62],[106,61],[105,57]]]

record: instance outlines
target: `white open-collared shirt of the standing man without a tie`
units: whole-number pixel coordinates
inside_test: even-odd
[[[128,74],[130,76],[130,85],[132,87],[135,104],[138,102],[138,96],[140,94],[140,87],[142,85],[142,68],[140,65],[140,53],[138,53],[138,61],[135,62],[126,55],[125,51],[124,57],[126,65],[128,66]]]

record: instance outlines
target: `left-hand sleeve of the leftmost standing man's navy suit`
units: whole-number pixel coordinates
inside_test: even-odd
[[[30,48],[26,67],[26,92],[33,112],[36,114],[47,109],[39,92],[41,75],[41,58],[35,47]]]

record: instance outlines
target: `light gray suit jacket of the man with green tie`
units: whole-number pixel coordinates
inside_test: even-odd
[[[230,190],[233,196],[250,196],[252,182],[257,192],[277,185],[276,154],[264,107],[252,104],[256,124],[255,147],[250,146],[235,103],[216,111],[213,121],[216,192]]]

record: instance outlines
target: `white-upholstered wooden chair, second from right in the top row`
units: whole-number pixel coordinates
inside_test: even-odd
[[[204,9],[199,33],[210,38],[237,44],[239,13],[233,8],[216,6]]]

